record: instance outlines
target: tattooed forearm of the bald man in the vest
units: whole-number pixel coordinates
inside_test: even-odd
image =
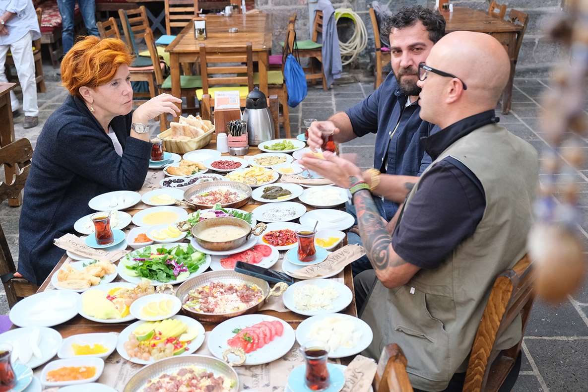
[[[400,257],[396,258],[392,254],[392,236],[386,230],[369,191],[356,192],[353,195],[353,203],[358,216],[360,237],[374,269],[385,270],[404,264]]]

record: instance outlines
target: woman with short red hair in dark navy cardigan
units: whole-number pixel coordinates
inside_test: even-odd
[[[88,36],[61,62],[70,95],[45,122],[36,142],[19,223],[18,272],[41,284],[64,254],[53,239],[74,232],[92,197],[138,190],[151,156],[147,123],[176,115],[169,94],[132,111],[132,56],[120,39]]]

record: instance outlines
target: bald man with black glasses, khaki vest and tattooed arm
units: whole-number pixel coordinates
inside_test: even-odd
[[[399,344],[416,392],[462,390],[493,282],[526,253],[538,161],[529,143],[497,124],[509,71],[495,38],[463,31],[440,39],[420,63],[420,117],[441,130],[423,138],[433,163],[390,233],[358,167],[328,153],[300,160],[350,189],[374,268],[354,280],[360,317],[373,330],[365,354],[377,359],[386,344]],[[497,348],[515,346],[521,334],[519,317]],[[514,385],[518,368],[512,374],[500,391]]]

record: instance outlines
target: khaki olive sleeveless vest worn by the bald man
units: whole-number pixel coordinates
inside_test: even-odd
[[[376,280],[362,314],[373,330],[366,353],[377,359],[386,344],[399,344],[412,386],[427,391],[445,389],[453,374],[466,371],[496,277],[526,253],[538,185],[534,148],[495,123],[454,142],[425,173],[447,156],[462,162],[482,183],[482,220],[472,237],[436,269],[421,269],[395,289]],[[419,182],[407,197],[405,210],[418,188]],[[499,348],[514,346],[520,336],[519,317],[498,342]]]

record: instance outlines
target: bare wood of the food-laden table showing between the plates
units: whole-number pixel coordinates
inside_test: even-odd
[[[206,149],[216,149],[216,143],[213,141],[205,148]],[[262,151],[260,151],[257,147],[251,146],[249,149],[248,155],[256,155],[260,152],[262,152]],[[226,153],[223,155],[228,156],[228,154],[226,154]],[[247,212],[251,212],[253,209],[255,209],[258,206],[260,206],[259,203],[255,202],[253,200],[250,200],[249,204],[240,207],[240,209],[246,210]],[[314,208],[311,206],[307,206],[307,209],[312,210]],[[131,215],[135,215],[135,213],[138,213],[139,211],[140,210],[126,210],[126,212],[128,212]],[[188,210],[188,211],[192,212],[192,210]],[[45,282],[41,285],[38,292],[44,292],[47,289],[47,286],[48,286],[49,282],[51,281],[51,276],[54,273],[56,273],[59,268],[61,268],[61,266],[66,262],[67,259],[68,259],[68,256],[66,254],[64,254],[64,256],[61,258],[61,260],[59,260],[58,264],[52,270],[51,274],[49,274],[49,277],[47,279],[45,279]],[[355,293],[353,290],[353,276],[352,276],[350,265],[345,267],[343,274],[344,274],[345,284],[348,287],[350,287],[350,289],[353,293],[353,300],[352,300],[351,304],[346,308],[345,313],[351,314],[352,316],[357,316],[357,309],[355,306]],[[179,285],[177,285],[175,287],[175,289],[177,289],[178,287],[179,287]],[[305,320],[307,318],[306,316],[300,316],[299,314],[293,313],[292,311],[279,312],[279,311],[274,311],[274,310],[265,310],[265,311],[260,311],[258,313],[268,314],[270,316],[279,317],[280,319],[285,320],[290,325],[292,325],[292,327],[294,329],[296,329],[298,324],[300,324],[303,320]],[[62,337],[64,337],[64,339],[65,339],[68,336],[71,336],[74,334],[79,334],[79,333],[110,332],[110,331],[120,332],[123,329],[125,329],[125,327],[127,327],[129,324],[132,324],[135,321],[136,320],[133,320],[128,323],[116,323],[116,324],[96,323],[95,321],[85,319],[84,317],[82,317],[78,314],[78,316],[75,316],[74,319],[71,319],[71,320],[67,321],[66,323],[55,326],[54,329],[58,330],[59,333],[61,333]],[[215,323],[206,323],[206,322],[202,322],[202,325],[204,326],[206,331],[210,331],[216,326]]]

